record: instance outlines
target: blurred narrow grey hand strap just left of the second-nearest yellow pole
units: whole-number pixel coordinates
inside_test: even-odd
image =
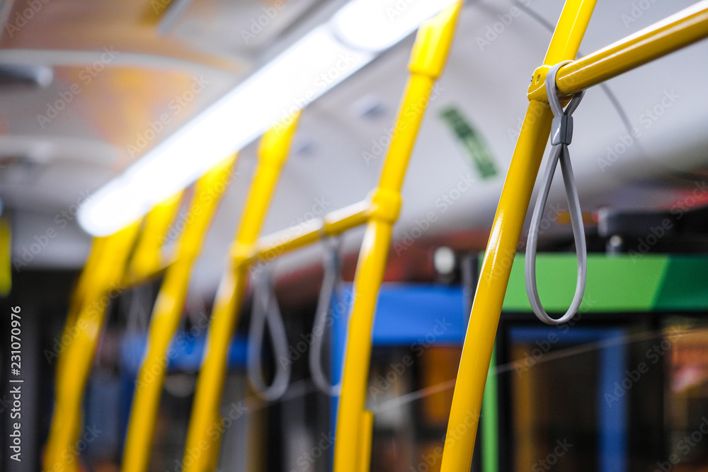
[[[324,351],[325,331],[331,323],[327,323],[330,316],[332,299],[336,298],[336,291],[341,282],[342,263],[339,251],[341,248],[341,238],[326,238],[324,243],[324,255],[322,265],[324,267],[324,277],[322,287],[319,291],[317,309],[312,323],[312,344],[309,348],[309,369],[312,374],[312,381],[319,391],[329,396],[338,396],[341,385],[332,385],[322,369],[322,354]]]

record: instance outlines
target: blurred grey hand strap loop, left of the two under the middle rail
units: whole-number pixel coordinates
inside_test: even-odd
[[[273,276],[264,266],[253,271],[253,311],[249,327],[249,343],[246,368],[249,381],[259,396],[266,401],[276,401],[287,391],[290,382],[290,357],[287,352],[287,333],[282,321],[280,307],[275,299]],[[270,386],[263,380],[261,350],[265,323],[268,323],[270,339],[273,343],[275,376]]]

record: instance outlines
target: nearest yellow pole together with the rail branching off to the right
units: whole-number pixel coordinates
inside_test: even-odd
[[[566,1],[544,65],[532,76],[529,107],[499,200],[464,339],[442,472],[469,471],[472,464],[476,425],[501,306],[553,118],[544,92],[545,77],[552,65],[575,57],[594,8],[595,0]],[[708,38],[708,1],[705,0],[598,52],[569,62],[559,69],[556,86],[563,95],[578,93],[704,38]]]

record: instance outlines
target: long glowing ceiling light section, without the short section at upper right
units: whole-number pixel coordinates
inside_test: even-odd
[[[93,236],[115,233],[371,59],[316,28],[93,194],[79,223]]]

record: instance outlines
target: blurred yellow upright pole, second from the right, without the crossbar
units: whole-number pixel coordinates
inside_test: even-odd
[[[409,62],[411,77],[396,118],[379,187],[372,193],[371,217],[359,255],[347,333],[334,443],[336,472],[369,470],[372,415],[365,410],[365,402],[376,299],[386,267],[392,228],[401,209],[401,186],[406,168],[430,91],[445,67],[460,8],[462,1],[445,8],[418,30]]]

